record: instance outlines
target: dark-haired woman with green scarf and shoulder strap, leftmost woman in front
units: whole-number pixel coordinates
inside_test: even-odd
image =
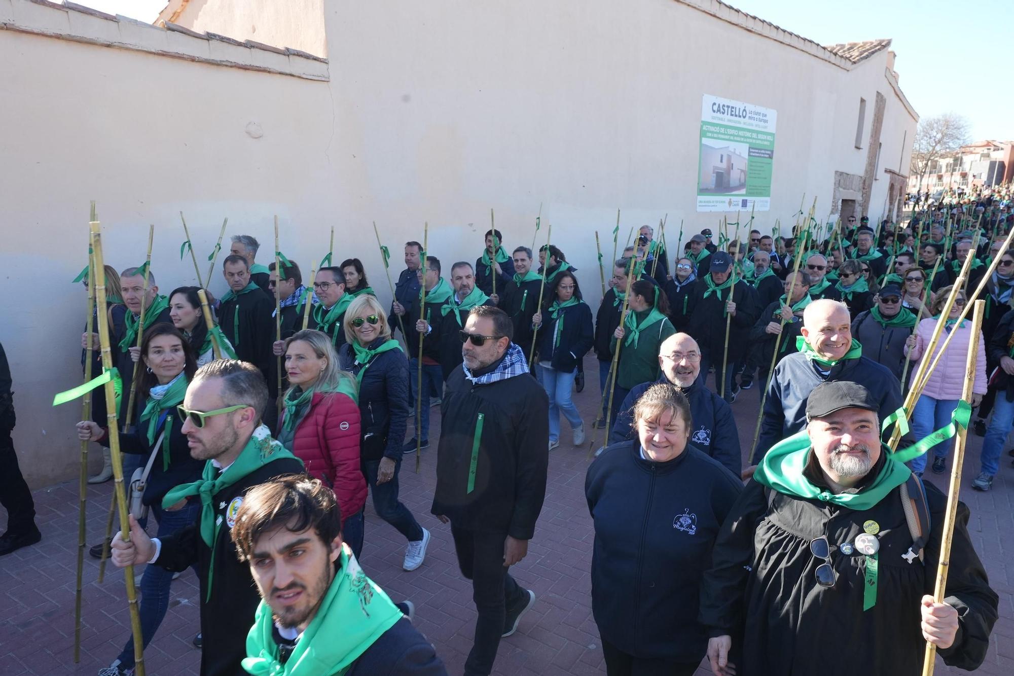
[[[144,402],[135,434],[120,436],[120,450],[151,461],[142,503],[158,522],[158,536],[164,538],[195,523],[201,514],[201,500],[192,497],[162,508],[162,497],[183,483],[201,478],[204,461],[191,458],[183,421],[175,408],[184,401],[187,386],[197,371],[197,358],[190,342],[170,324],[155,324],[144,332],[141,342],[144,369],[138,379],[138,402]],[[78,438],[101,442],[107,430],[90,420],[77,423]],[[130,480],[130,477],[127,477]],[[102,545],[97,545],[101,555]],[[94,549],[94,547],[92,548]],[[169,606],[172,572],[159,565],[148,565],[141,578],[141,635],[144,646],[151,643]],[[123,652],[100,676],[132,673],[134,641],[128,637]]]

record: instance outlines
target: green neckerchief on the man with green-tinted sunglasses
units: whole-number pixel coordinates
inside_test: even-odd
[[[239,452],[236,459],[219,474],[218,468],[209,460],[204,465],[204,473],[199,481],[183,483],[165,493],[162,508],[168,508],[191,495],[201,496],[201,539],[211,549],[211,562],[208,565],[208,593],[205,603],[211,600],[211,586],[215,577],[215,544],[222,528],[222,519],[215,519],[214,497],[237,481],[251,474],[270,462],[284,458],[296,459],[285,447],[271,437],[267,425],[260,425],[254,430],[246,446]],[[302,462],[302,461],[300,461]]]

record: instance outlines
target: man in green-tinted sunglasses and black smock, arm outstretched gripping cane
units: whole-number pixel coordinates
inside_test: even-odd
[[[249,566],[229,537],[243,495],[281,474],[301,474],[302,462],[271,437],[261,423],[268,406],[264,377],[251,364],[219,359],[198,369],[178,413],[191,456],[206,460],[201,480],[169,490],[164,506],[199,496],[198,524],[152,539],[134,517],[130,539],[113,538],[118,567],[153,563],[178,572],[197,566],[201,583],[202,676],[242,673],[246,632],[261,599]]]

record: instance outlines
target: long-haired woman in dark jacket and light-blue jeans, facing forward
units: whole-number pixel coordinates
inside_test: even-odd
[[[584,422],[571,401],[577,364],[591,349],[594,328],[591,309],[581,299],[581,287],[570,270],[557,276],[556,298],[547,298],[531,318],[538,329],[539,382],[550,398],[550,451],[560,446],[560,412],[574,432],[574,446],[584,444]]]

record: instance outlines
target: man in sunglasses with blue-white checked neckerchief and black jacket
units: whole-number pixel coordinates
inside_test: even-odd
[[[507,313],[478,306],[458,331],[463,363],[447,379],[432,513],[450,523],[479,611],[465,676],[493,669],[500,638],[535,595],[508,567],[524,558],[546,496],[549,398],[511,342]]]

